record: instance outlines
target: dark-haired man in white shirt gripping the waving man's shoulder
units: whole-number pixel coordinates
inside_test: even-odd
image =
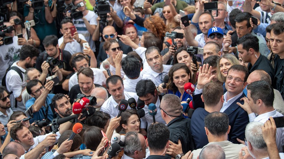
[[[263,93],[265,92],[265,93]],[[238,104],[247,111],[249,122],[265,123],[269,117],[281,117],[281,113],[273,108],[274,91],[266,81],[254,81],[247,86],[247,97],[242,98],[244,104]],[[255,113],[258,116],[255,116]],[[246,134],[247,135],[247,134]],[[247,136],[246,136],[247,137]],[[278,151],[283,152],[284,128],[276,129],[276,144]]]

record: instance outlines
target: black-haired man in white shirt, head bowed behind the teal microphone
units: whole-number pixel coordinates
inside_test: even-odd
[[[145,102],[145,107],[143,108],[145,111],[145,116],[141,118],[140,123],[141,133],[146,133],[145,129],[153,123],[153,117],[148,112],[148,105],[150,103],[155,104],[157,107],[157,114],[155,115],[156,122],[166,124],[165,120],[161,116],[161,110],[158,109],[162,97],[157,95],[155,83],[149,79],[142,79],[137,83],[135,90],[139,99]]]

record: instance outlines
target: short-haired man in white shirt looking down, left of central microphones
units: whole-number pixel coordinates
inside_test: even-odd
[[[107,99],[101,106],[101,111],[108,113],[111,118],[118,115],[118,104],[122,99],[128,100],[134,98],[137,101],[138,96],[133,92],[124,92],[123,80],[120,76],[113,75],[106,79],[106,88],[111,94],[111,97]],[[130,106],[127,109],[131,109]]]

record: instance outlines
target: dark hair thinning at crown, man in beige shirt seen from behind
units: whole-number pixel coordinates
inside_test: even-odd
[[[224,135],[229,129],[229,117],[226,113],[215,111],[204,118],[204,124],[212,135]]]

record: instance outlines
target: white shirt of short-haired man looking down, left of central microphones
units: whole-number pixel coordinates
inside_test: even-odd
[[[124,99],[128,100],[129,98],[134,98],[136,102],[138,100],[138,96],[136,93],[124,91]],[[127,109],[131,109],[131,107],[128,106]],[[111,118],[114,118],[119,113],[118,103],[114,100],[112,96],[110,96],[101,106],[101,111],[108,113]]]

